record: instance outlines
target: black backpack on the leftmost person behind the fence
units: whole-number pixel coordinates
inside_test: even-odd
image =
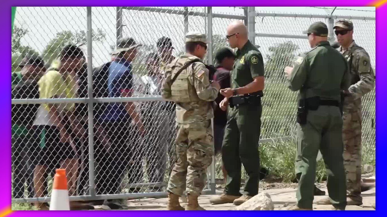
[[[33,99],[39,98],[38,82],[32,79],[20,81],[12,85],[12,99]],[[32,126],[40,104],[12,104],[11,121],[12,124]]]

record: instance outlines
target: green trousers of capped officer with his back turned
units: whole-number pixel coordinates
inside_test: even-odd
[[[297,123],[296,176],[299,180],[297,205],[312,209],[316,158],[320,152],[328,175],[328,194],[332,205],[346,207],[346,178],[342,142],[342,117],[339,107],[320,105],[308,110],[307,124]]]

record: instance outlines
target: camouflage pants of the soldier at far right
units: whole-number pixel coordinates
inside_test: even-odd
[[[348,197],[361,198],[361,110],[343,114],[342,137],[344,142],[344,168],[347,176]]]

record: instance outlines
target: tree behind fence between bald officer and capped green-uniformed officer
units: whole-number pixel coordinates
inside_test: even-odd
[[[295,60],[297,51],[300,47],[291,41],[277,44],[269,47],[270,54],[267,55],[265,64],[265,78],[284,79],[284,68],[290,66]]]

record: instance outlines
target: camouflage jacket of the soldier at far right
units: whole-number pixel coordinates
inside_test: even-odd
[[[375,73],[370,63],[370,56],[363,47],[354,41],[347,50],[339,47],[339,51],[347,59],[351,74],[350,95],[344,99],[344,112],[361,109],[361,97],[375,88]]]

